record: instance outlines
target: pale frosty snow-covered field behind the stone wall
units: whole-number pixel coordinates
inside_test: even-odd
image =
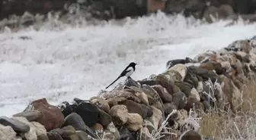
[[[239,21],[227,26],[229,23],[222,20],[206,24],[158,13],[128,19],[121,25],[2,33],[0,116],[18,113],[39,98],[55,105],[73,98],[88,99],[114,81],[131,61],[139,64],[133,79],[143,79],[162,73],[171,59],[194,57],[256,35],[256,23]]]

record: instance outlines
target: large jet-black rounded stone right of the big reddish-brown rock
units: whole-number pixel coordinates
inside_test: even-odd
[[[78,107],[75,109],[75,113],[82,117],[86,126],[94,126],[98,122],[98,116],[100,114],[98,107],[94,104],[82,102],[78,104]]]

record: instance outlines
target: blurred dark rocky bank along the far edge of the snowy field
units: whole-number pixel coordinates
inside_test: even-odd
[[[85,20],[123,19],[163,11],[166,14],[256,20],[256,0],[0,0],[0,28],[24,26],[47,20],[47,14],[57,14],[65,23],[72,17]]]

